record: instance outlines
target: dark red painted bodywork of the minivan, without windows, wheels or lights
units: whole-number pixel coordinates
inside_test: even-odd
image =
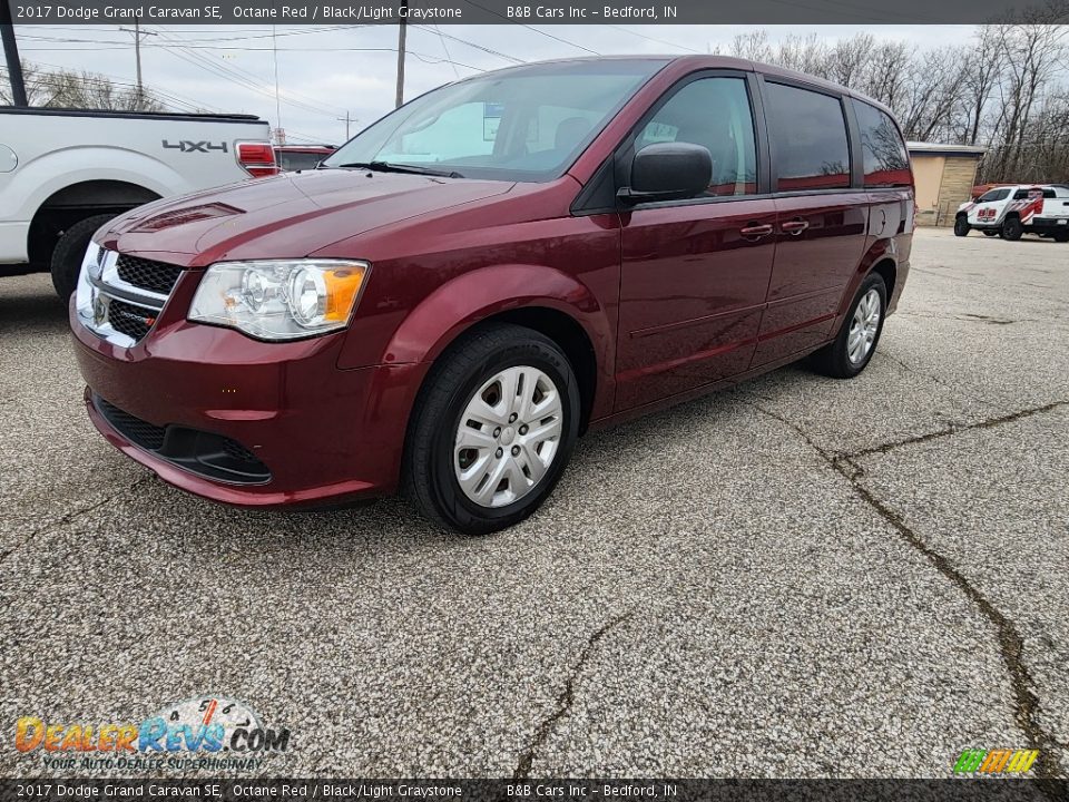
[[[100,340],[72,314],[87,384],[155,426],[236,440],[272,479],[236,486],[188,472],[130,443],[90,404],[95,424],[168,482],[220,501],[344,500],[396,489],[410,412],[431,363],[460,333],[494,315],[552,310],[581,326],[597,365],[587,418],[598,426],[828,342],[876,264],[895,274],[893,310],[909,270],[912,187],[768,192],[572,215],[585,184],[650,105],[705,69],[754,66],[715,57],[669,62],[562,177],[547,183],[317,170],[159,202],[118,218],[97,242],[188,270],[133,348]],[[160,213],[213,203],[241,214],[145,225]],[[808,225],[782,228],[794,221]],[[741,233],[755,224],[772,233]],[[372,264],[346,330],[265,343],[186,321],[213,263],[306,256]]]

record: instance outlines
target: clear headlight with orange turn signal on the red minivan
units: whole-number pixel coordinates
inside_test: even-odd
[[[294,340],[344,329],[371,265],[336,260],[220,262],[208,267],[189,320],[261,340]]]

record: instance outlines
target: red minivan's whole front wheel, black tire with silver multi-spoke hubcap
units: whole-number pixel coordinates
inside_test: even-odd
[[[494,324],[435,361],[412,414],[402,481],[431,521],[465,535],[538,509],[571,457],[579,385],[542,334]]]

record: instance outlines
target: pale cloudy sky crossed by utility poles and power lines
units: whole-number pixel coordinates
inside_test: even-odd
[[[591,53],[687,53],[726,49],[745,26],[423,26],[410,25],[405,97],[523,61]],[[765,26],[775,41],[817,33],[834,40],[865,31],[918,47],[962,42],[970,26]],[[256,114],[281,124],[288,141],[345,139],[393,107],[396,26],[145,26],[147,87],[174,108]],[[23,60],[135,81],[133,33],[119,26],[17,26]],[[277,51],[277,52],[276,52]],[[277,55],[276,105],[275,68]]]

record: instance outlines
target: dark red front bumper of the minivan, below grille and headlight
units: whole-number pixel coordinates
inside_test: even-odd
[[[88,330],[71,305],[89,418],[105,438],[170,485],[227,503],[314,505],[393,492],[426,365],[340,370],[345,332],[263,343],[188,323],[175,310],[188,307],[198,278],[183,274],[151,332],[130,348]],[[166,432],[169,446],[139,437],[138,422]],[[229,464],[210,457],[223,439],[264,471],[214,470]]]

